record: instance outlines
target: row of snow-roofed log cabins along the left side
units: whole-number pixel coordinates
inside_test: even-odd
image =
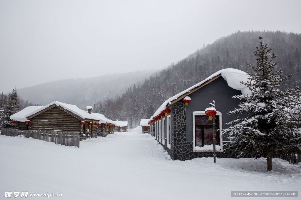
[[[85,135],[126,132],[127,121],[112,121],[102,114],[93,113],[92,106],[87,106],[87,109],[84,111],[75,105],[54,101],[46,106],[28,106],[10,118],[20,130],[56,130]]]

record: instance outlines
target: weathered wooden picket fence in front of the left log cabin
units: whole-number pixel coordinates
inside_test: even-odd
[[[18,130],[18,129],[2,129],[2,136],[20,136],[26,138],[44,140],[54,142],[57,145],[74,146],[79,148],[79,133],[75,132],[56,132],[41,130]]]

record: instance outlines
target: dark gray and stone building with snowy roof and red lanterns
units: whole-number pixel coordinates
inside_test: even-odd
[[[214,100],[217,110],[216,157],[236,157],[232,151],[223,151],[222,145],[228,142],[228,138],[221,130],[227,128],[226,123],[237,119],[237,115],[227,115],[239,104],[239,100],[232,97],[250,94],[250,90],[240,84],[241,81],[247,82],[248,78],[245,72],[236,69],[214,73],[166,100],[150,119],[141,120],[143,132],[154,136],[172,160],[213,157],[213,120],[209,120],[205,109]]]

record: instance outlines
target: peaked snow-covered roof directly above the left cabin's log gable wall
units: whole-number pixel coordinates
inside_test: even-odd
[[[61,106],[62,108],[72,112],[73,114],[79,116],[80,118],[82,119],[92,119],[92,120],[99,120],[98,117],[96,117],[95,115],[92,115],[92,114],[89,114],[88,112],[82,110],[82,109],[79,109],[76,105],[72,105],[72,104],[67,104],[67,103],[61,103],[61,102],[58,102],[58,101],[54,101],[52,103],[49,103],[48,105],[46,106],[42,106],[41,108],[33,111],[33,112],[30,112],[28,113],[25,117],[29,117],[31,115],[34,115],[36,114],[37,112],[40,112],[52,105],[57,105],[57,106]]]

